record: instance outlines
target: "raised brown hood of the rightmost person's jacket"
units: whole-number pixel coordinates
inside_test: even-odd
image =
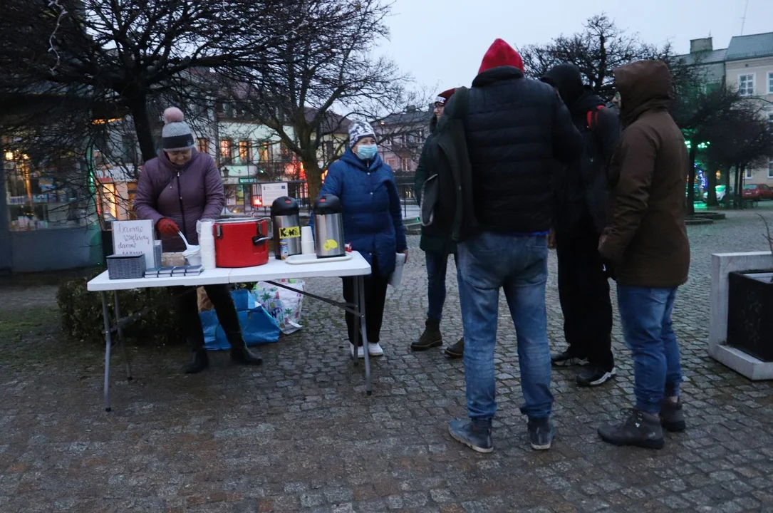
[[[647,110],[668,110],[673,98],[671,72],[661,60],[640,60],[615,70],[615,85],[620,92],[620,117],[625,126]]]

